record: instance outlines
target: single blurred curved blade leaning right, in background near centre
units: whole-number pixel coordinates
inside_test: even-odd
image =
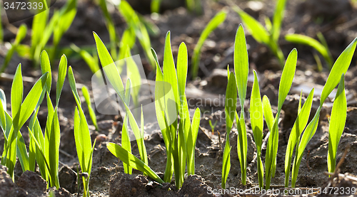
[[[211,21],[207,24],[206,28],[203,29],[200,38],[198,39],[198,43],[193,50],[192,55],[192,65],[191,65],[191,73],[192,78],[196,78],[198,75],[198,65],[201,58],[201,48],[203,46],[204,41],[208,38],[209,34],[214,31],[223,21],[226,19],[226,11],[220,11],[214,16]]]

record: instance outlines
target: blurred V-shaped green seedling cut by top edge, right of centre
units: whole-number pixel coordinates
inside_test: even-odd
[[[261,23],[256,21],[255,18],[247,14],[245,11],[241,10],[238,6],[231,3],[234,11],[236,11],[244,23],[244,25],[251,32],[251,36],[258,43],[263,43],[268,46],[278,58],[281,67],[283,68],[284,55],[281,48],[278,45],[278,39],[281,31],[281,23],[283,22],[283,16],[285,11],[286,0],[278,0],[276,3],[276,9],[273,15],[273,24],[269,18],[266,18],[266,28],[264,28]]]

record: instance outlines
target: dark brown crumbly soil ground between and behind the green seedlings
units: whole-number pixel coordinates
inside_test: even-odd
[[[140,2],[140,3],[138,3]],[[226,66],[229,64],[233,68],[233,43],[241,19],[235,11],[232,11],[226,1],[202,1],[202,15],[192,14],[184,8],[184,1],[169,0],[163,1],[163,11],[158,16],[148,14],[148,9],[144,9],[146,0],[132,1],[134,9],[159,27],[159,34],[151,35],[151,46],[156,50],[159,56],[159,62],[162,63],[164,56],[164,38],[167,31],[171,31],[171,45],[174,57],[177,56],[178,46],[185,42],[188,48],[188,63],[191,63],[193,48],[196,46],[198,38],[208,21],[221,9],[225,9],[228,14],[226,21],[208,36],[208,40],[203,44],[201,50],[201,63],[197,80],[188,80],[186,94],[190,108],[200,107],[203,116],[201,117],[201,127],[198,132],[196,143],[196,175],[187,176],[183,186],[177,190],[174,186],[174,179],[171,183],[159,185],[149,177],[141,175],[140,171],[134,170],[133,175],[124,174],[123,164],[114,155],[112,155],[106,144],[108,142],[121,142],[121,115],[101,115],[96,112],[99,121],[99,130],[90,125],[91,139],[99,139],[94,149],[93,169],[89,189],[91,196],[235,196],[214,194],[213,191],[221,189],[221,169],[224,140],[226,139],[226,125],[224,121],[223,95],[226,92],[227,72]],[[272,18],[275,1],[233,1],[251,16],[264,22],[264,17]],[[54,8],[64,5],[64,1],[57,1]],[[71,43],[79,47],[95,47],[92,31],[98,33],[101,39],[108,43],[109,33],[106,30],[105,20],[99,6],[93,1],[82,0],[78,4],[78,12],[74,23],[69,31],[64,34],[60,47],[66,48]],[[114,18],[116,31],[121,35],[126,28],[124,19],[117,9],[109,7],[111,16]],[[318,103],[319,93],[322,91],[328,77],[328,68],[323,61],[323,72],[318,72],[313,53],[316,53],[308,46],[300,46],[288,43],[283,39],[286,33],[302,33],[316,38],[316,33],[321,32],[325,36],[328,47],[331,50],[333,59],[348,46],[353,38],[357,36],[357,9],[348,0],[288,0],[286,4],[286,14],[283,20],[281,39],[279,44],[285,56],[292,48],[298,49],[298,65],[296,75],[293,80],[293,87],[286,101],[283,104],[283,112],[279,122],[279,142],[276,176],[272,179],[272,188],[282,188],[284,184],[284,161],[288,137],[296,119],[298,111],[298,99],[301,90],[303,96],[307,96],[312,87],[316,87],[316,94],[313,100],[312,116],[315,114]],[[6,20],[6,19],[5,19]],[[3,18],[4,21],[4,18]],[[11,24],[18,27],[21,23],[31,26],[31,18]],[[15,34],[9,31],[8,26],[4,27],[4,42],[13,41]],[[24,43],[31,42],[31,34],[28,33]],[[261,95],[267,95],[271,105],[276,109],[278,102],[278,85],[281,77],[281,67],[278,60],[266,46],[257,43],[248,30],[246,30],[246,41],[248,44],[249,68],[257,70]],[[132,54],[141,55],[141,61],[144,65],[146,78],[154,80],[154,73],[151,70],[149,61],[145,59],[144,52],[137,42],[136,48]],[[6,47],[0,48],[0,63],[4,61]],[[66,54],[69,65],[74,68],[76,82],[86,85],[91,89],[91,71],[86,63],[74,53]],[[316,134],[308,143],[306,151],[303,154],[303,161],[298,174],[298,188],[325,188],[325,187],[357,187],[357,53],[353,56],[351,66],[345,76],[345,85],[348,100],[348,112],[346,126],[338,145],[337,162],[342,158],[343,164],[340,166],[340,174],[334,174],[331,178],[326,175],[327,171],[327,151],[328,151],[328,117],[331,114],[333,97],[326,101],[321,110],[321,118],[318,124]],[[60,54],[57,58],[60,58]],[[54,65],[58,65],[59,60],[54,60]],[[38,68],[33,68],[29,60],[19,58],[14,55],[11,59],[6,73],[14,75],[16,66],[21,63],[22,73],[29,79],[36,80],[41,75]],[[54,72],[56,73],[56,66]],[[189,69],[188,69],[189,70]],[[190,74],[190,73],[189,73]],[[24,82],[24,95],[29,92],[34,81]],[[246,96],[246,107],[248,109],[248,98],[250,97],[252,80],[249,78],[248,90]],[[7,98],[7,108],[10,106],[11,80],[2,78],[0,88],[4,90]],[[318,91],[319,90],[319,91]],[[54,91],[54,88],[52,88]],[[55,92],[52,92],[55,95]],[[139,100],[145,100],[147,95],[142,95]],[[205,98],[218,99],[218,103],[202,102]],[[303,98],[305,100],[305,98]],[[45,102],[44,102],[45,103]],[[60,171],[59,180],[61,188],[56,191],[56,196],[78,196],[81,194],[81,182],[77,182],[77,167],[79,162],[76,156],[76,147],[74,143],[74,106],[76,105],[71,89],[66,80],[64,90],[61,94],[59,104],[59,119],[61,126],[61,151],[60,151]],[[241,110],[238,107],[237,110]],[[87,120],[91,124],[88,109],[84,106]],[[275,115],[276,111],[274,112]],[[154,112],[149,112],[154,116]],[[46,106],[41,106],[39,111],[39,122],[45,127]],[[145,118],[145,117],[144,117]],[[149,117],[148,117],[149,119]],[[211,132],[209,120],[217,121],[215,132]],[[231,171],[229,172],[227,188],[238,188],[247,190],[258,186],[258,175],[256,169],[256,148],[253,142],[251,124],[246,119],[248,132],[248,170],[247,184],[241,184],[241,169],[237,154],[237,130],[233,128],[231,132]],[[149,166],[154,171],[163,176],[166,166],[166,149],[164,139],[162,138],[159,125],[156,120],[146,122],[144,127],[146,132],[146,149],[149,156]],[[218,132],[220,137],[218,137]],[[21,129],[26,143],[29,141],[29,134],[26,127]],[[99,134],[101,134],[99,136]],[[264,137],[268,134],[268,129],[264,127]],[[266,144],[266,142],[265,142]],[[139,151],[136,142],[132,142],[133,154],[139,157]],[[349,147],[346,157],[343,153]],[[4,149],[4,137],[0,132],[0,152]],[[265,159],[266,147],[263,147],[262,161]],[[346,151],[347,152],[347,151]],[[78,187],[79,186],[79,187]],[[11,181],[4,166],[0,166],[0,196],[46,196],[49,193],[46,183],[39,171],[22,172],[19,162],[16,164],[15,183]],[[307,190],[307,189],[306,189]],[[313,196],[317,195],[314,191]],[[326,196],[325,194],[321,194]],[[254,195],[253,195],[254,196]],[[258,195],[260,196],[260,195]]]

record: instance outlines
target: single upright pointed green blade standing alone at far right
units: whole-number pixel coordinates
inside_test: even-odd
[[[343,129],[345,129],[347,117],[347,102],[345,93],[344,74],[341,76],[338,85],[335,101],[331,111],[330,124],[328,127],[328,172],[333,173],[336,169],[336,154],[338,143],[340,142]]]

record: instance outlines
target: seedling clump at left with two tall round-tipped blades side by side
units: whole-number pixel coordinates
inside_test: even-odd
[[[49,183],[49,186],[59,188],[59,143],[60,143],[60,127],[59,127],[59,98],[61,97],[62,87],[67,73],[67,59],[62,55],[59,63],[59,78],[56,84],[56,105],[52,105],[50,92],[51,92],[51,65],[49,55],[44,50],[41,53],[41,71],[42,73],[49,73],[46,80],[46,91],[42,92],[39,102],[36,103],[34,114],[29,122],[29,166],[30,170],[35,169],[35,160],[39,164],[41,176]],[[44,134],[42,133],[39,119],[37,114],[39,106],[41,105],[46,95],[47,100],[47,121]],[[20,157],[19,157],[20,158]]]

